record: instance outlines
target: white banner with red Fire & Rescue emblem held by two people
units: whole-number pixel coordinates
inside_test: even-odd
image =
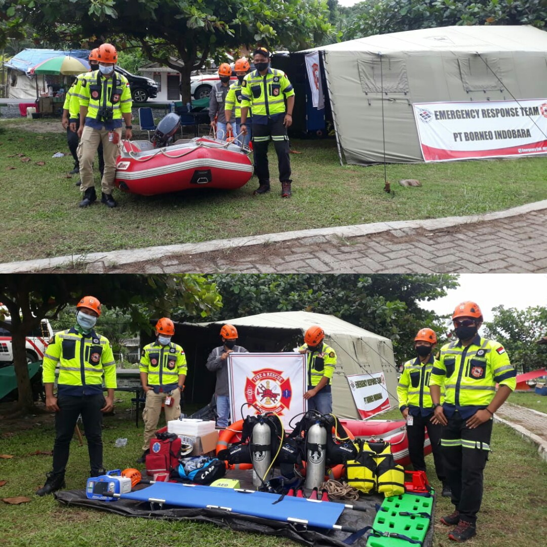
[[[306,411],[303,354],[230,353],[228,378],[232,422],[261,412],[275,412],[281,417],[283,427],[292,429],[289,421]]]

